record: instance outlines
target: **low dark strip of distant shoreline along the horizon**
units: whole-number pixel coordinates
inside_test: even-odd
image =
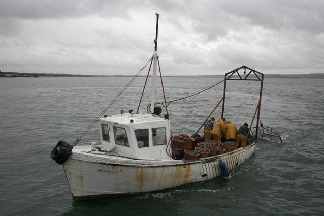
[[[241,75],[242,76],[242,75]],[[134,77],[132,75],[81,75],[81,74],[38,74],[38,73],[15,73],[15,72],[1,72],[0,77],[2,78],[13,78],[13,77]],[[146,77],[141,75],[139,77]],[[164,77],[224,77],[222,75],[191,75],[191,76],[164,76]],[[293,78],[293,79],[324,79],[324,73],[317,74],[265,74],[265,78]]]

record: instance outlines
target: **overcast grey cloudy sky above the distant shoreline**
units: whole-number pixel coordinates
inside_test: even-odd
[[[155,12],[156,0],[0,0],[0,70],[134,75]],[[322,0],[158,0],[157,13],[164,75],[324,73]]]

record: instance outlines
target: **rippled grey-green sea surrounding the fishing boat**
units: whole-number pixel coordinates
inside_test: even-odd
[[[0,78],[0,215],[324,215],[322,79],[265,79],[261,121],[283,142],[259,140],[254,155],[229,177],[74,202],[63,168],[50,153],[60,140],[72,144],[131,79]],[[222,79],[164,77],[166,99],[185,97]],[[144,83],[144,77],[137,78],[105,114],[137,110]],[[250,125],[260,82],[227,85],[224,117],[237,127]],[[150,86],[142,113],[150,103]],[[157,102],[163,101],[160,85],[156,92]],[[223,82],[170,103],[172,134],[195,133],[222,96]],[[212,117],[220,115],[218,107]],[[94,125],[78,145],[100,143],[99,130]]]

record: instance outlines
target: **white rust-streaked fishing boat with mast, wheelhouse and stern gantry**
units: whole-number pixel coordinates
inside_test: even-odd
[[[186,159],[183,155],[185,152],[183,148],[195,150],[198,143],[204,142],[204,137],[199,137],[198,133],[221,103],[221,117],[223,117],[226,84],[229,81],[261,82],[260,98],[249,132],[255,117],[258,125],[264,75],[246,66],[225,74],[224,94],[219,103],[210,115],[206,116],[206,120],[202,120],[202,125],[194,135],[181,138],[189,140],[189,146],[175,147],[176,139],[172,136],[165,95],[166,114],[164,116],[161,116],[161,108],[155,104],[156,71],[157,65],[159,66],[158,14],[156,18],[155,51],[150,59],[151,66],[153,64],[153,84],[152,109],[149,113],[138,113],[139,110],[129,110],[126,113],[121,111],[112,116],[102,113],[94,121],[99,122],[101,143],[92,142],[91,145],[76,146],[82,138],[80,136],[73,145],[59,141],[52,150],[51,158],[63,166],[74,200],[160,191],[190,182],[206,181],[233,170],[249,159],[256,149],[258,126],[255,128],[255,138],[246,138],[244,145],[238,149],[196,159]],[[240,76],[241,69],[249,72],[244,77]],[[237,76],[233,76],[234,74]],[[162,76],[160,78],[163,88]]]

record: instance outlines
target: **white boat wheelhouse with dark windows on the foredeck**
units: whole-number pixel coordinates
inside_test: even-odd
[[[169,159],[170,120],[154,114],[125,113],[105,116],[101,124],[101,148],[117,147],[118,155],[131,159]]]

